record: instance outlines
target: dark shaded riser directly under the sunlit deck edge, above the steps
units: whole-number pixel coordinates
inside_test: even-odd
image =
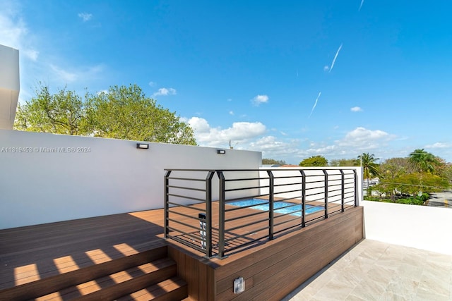
[[[132,268],[133,266],[146,264],[166,257],[167,246],[156,247],[152,250],[131,254],[119,259],[107,260],[106,262],[93,264],[82,269],[68,271],[64,274],[57,274],[12,288],[6,288],[0,290],[0,295],[4,298],[3,300],[8,301],[34,299],[38,296],[58,292],[69,286],[85,283],[95,278],[114,274]]]

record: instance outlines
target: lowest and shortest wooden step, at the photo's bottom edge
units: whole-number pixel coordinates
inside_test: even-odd
[[[179,301],[188,297],[187,284],[179,277],[169,278],[142,290],[119,297],[117,301]]]

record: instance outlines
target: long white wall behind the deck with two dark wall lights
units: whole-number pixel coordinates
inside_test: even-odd
[[[162,208],[165,168],[252,168],[261,152],[0,130],[0,229]]]

